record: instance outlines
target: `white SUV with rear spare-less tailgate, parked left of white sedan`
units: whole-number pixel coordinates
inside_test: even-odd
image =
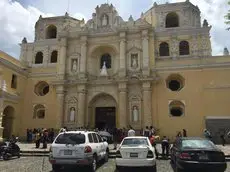
[[[108,161],[109,147],[100,135],[91,131],[68,131],[58,134],[50,147],[49,162],[53,171],[65,165],[88,166],[97,169],[97,162]]]

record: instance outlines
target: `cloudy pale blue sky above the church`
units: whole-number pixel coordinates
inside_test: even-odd
[[[69,1],[69,5],[68,5]],[[147,11],[154,2],[162,4],[167,0],[109,0],[119,15],[127,20],[130,15],[135,19],[141,12]],[[168,0],[168,2],[183,2],[184,0]],[[75,18],[88,20],[95,7],[107,0],[0,0],[0,50],[19,58],[23,37],[28,42],[34,40],[34,25],[39,16],[64,15],[68,10]],[[212,25],[211,41],[213,55],[222,55],[224,47],[230,49],[230,31],[227,31],[224,16],[230,8],[227,0],[190,0],[198,5],[202,21],[207,19]]]

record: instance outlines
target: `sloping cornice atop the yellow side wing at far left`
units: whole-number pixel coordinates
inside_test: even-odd
[[[21,75],[24,75],[26,77],[28,76],[28,72],[27,72],[26,67],[22,68],[22,67],[17,66],[15,64],[11,63],[10,61],[3,59],[3,58],[0,58],[0,63],[2,65],[4,65],[5,67],[7,67],[7,68],[9,68],[9,69],[21,74]]]

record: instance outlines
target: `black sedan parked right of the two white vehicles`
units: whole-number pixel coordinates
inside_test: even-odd
[[[224,153],[204,138],[178,138],[171,148],[171,163],[175,172],[224,172],[227,168]]]

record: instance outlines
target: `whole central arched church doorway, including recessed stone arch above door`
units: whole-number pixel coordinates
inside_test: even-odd
[[[89,103],[89,125],[102,129],[116,127],[116,100],[109,94],[99,94]]]

